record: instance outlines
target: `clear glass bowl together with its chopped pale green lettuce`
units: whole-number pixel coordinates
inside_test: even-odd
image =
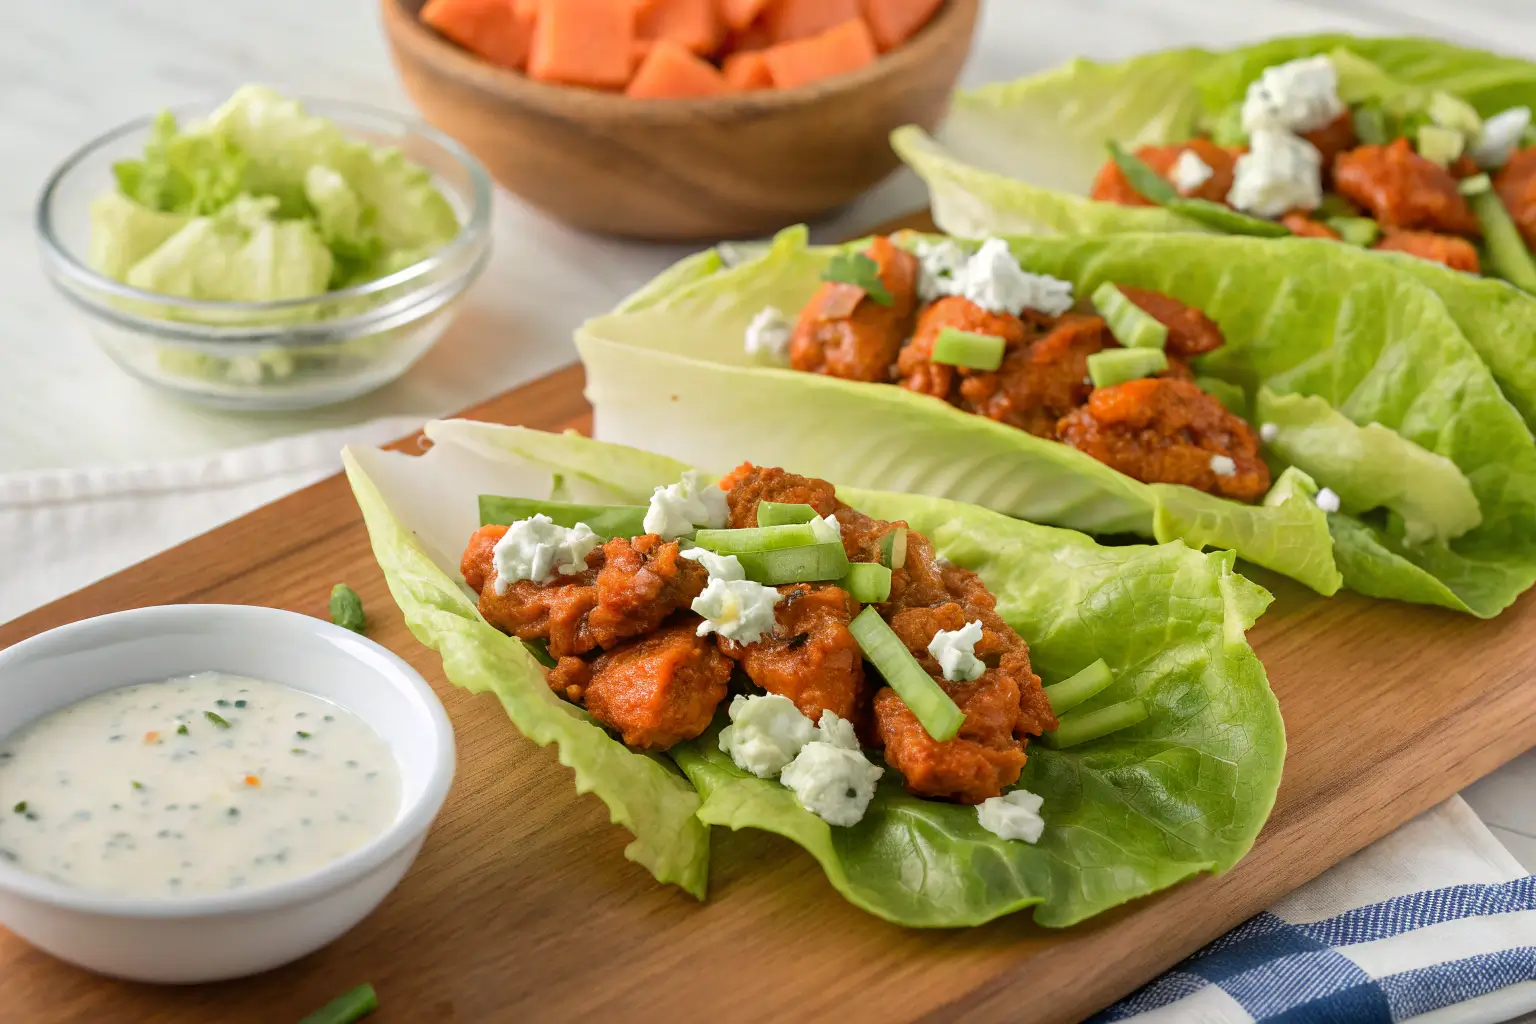
[[[246,86],[123,124],[43,187],[52,282],[131,375],[233,410],[401,376],[490,258],[492,184],[386,111]]]

